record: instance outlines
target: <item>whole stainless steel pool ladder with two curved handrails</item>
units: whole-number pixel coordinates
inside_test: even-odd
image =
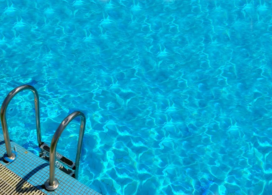
[[[69,114],[63,121],[60,123],[58,129],[55,131],[55,134],[53,135],[53,138],[51,140],[51,146],[49,147],[48,145],[44,144],[44,142],[41,142],[41,133],[40,133],[40,115],[39,115],[39,95],[37,90],[30,86],[30,85],[21,85],[19,87],[16,87],[13,89],[11,92],[8,93],[7,97],[3,101],[2,107],[1,107],[1,124],[2,124],[2,129],[3,129],[3,135],[4,135],[4,140],[5,140],[5,145],[6,145],[6,150],[7,153],[4,154],[3,158],[5,161],[12,162],[16,159],[17,157],[17,152],[11,150],[11,145],[10,145],[10,139],[9,139],[9,134],[8,134],[8,125],[7,125],[7,120],[6,120],[6,110],[8,107],[9,102],[11,99],[20,91],[23,90],[30,90],[34,94],[34,102],[35,102],[35,117],[36,117],[36,129],[37,129],[37,140],[38,140],[38,145],[42,150],[46,150],[47,152],[50,153],[49,157],[49,179],[44,183],[44,186],[47,190],[53,191],[59,186],[58,180],[55,178],[55,163],[56,163],[56,147],[58,140],[60,138],[61,133],[63,130],[66,128],[66,126],[76,117],[80,117],[80,130],[79,130],[79,138],[78,138],[78,144],[77,144],[77,152],[76,152],[76,161],[74,163],[74,168],[75,168],[75,178],[78,178],[78,167],[79,167],[79,161],[80,161],[80,156],[81,156],[81,149],[82,149],[82,141],[83,141],[83,135],[84,135],[84,130],[85,130],[85,125],[86,125],[86,117],[85,115],[80,112],[76,111],[71,114]],[[59,155],[57,153],[57,155]],[[63,159],[67,162],[70,161],[69,159],[63,157]]]

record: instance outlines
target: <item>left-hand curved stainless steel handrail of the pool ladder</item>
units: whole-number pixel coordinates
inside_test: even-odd
[[[30,85],[21,85],[19,87],[16,87],[15,89],[13,89],[11,92],[8,93],[7,97],[5,98],[5,100],[3,101],[2,106],[1,106],[1,113],[0,113],[1,124],[2,124],[3,134],[4,134],[5,145],[6,145],[6,149],[7,149],[7,158],[8,158],[8,161],[10,161],[10,162],[14,161],[16,156],[11,151],[10,139],[9,139],[9,134],[8,134],[8,125],[7,125],[7,119],[6,119],[6,110],[7,110],[8,104],[11,101],[11,99],[18,92],[20,92],[22,90],[25,90],[25,89],[29,89],[34,94],[37,140],[38,140],[39,145],[41,143],[41,133],[40,133],[41,128],[40,128],[40,114],[39,114],[39,94],[38,94],[37,90],[34,87],[32,87]]]

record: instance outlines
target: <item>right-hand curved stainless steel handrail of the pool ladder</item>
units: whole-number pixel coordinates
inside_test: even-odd
[[[76,111],[71,114],[69,114],[63,121],[60,123],[60,126],[56,130],[55,134],[53,135],[53,138],[51,140],[50,144],[50,159],[49,159],[49,179],[44,183],[44,186],[47,190],[53,191],[59,186],[59,182],[57,179],[55,179],[55,163],[56,163],[56,147],[57,143],[59,141],[60,135],[63,132],[63,130],[66,128],[66,126],[76,117],[80,117],[80,129],[79,129],[79,137],[78,137],[78,143],[77,143],[77,151],[76,151],[76,170],[75,170],[75,177],[78,178],[78,167],[79,167],[79,160],[81,156],[81,148],[82,148],[82,141],[83,141],[83,135],[85,131],[85,124],[86,124],[86,117],[85,115],[80,112]]]

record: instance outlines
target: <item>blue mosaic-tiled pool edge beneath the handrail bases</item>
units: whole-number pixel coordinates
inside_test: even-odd
[[[55,169],[55,178],[59,181],[59,187],[55,191],[47,191],[44,188],[44,182],[49,179],[49,163],[32,152],[24,149],[22,146],[11,141],[11,147],[16,146],[18,157],[11,163],[3,161],[0,158],[0,163],[8,169],[22,177],[25,181],[48,195],[100,195],[100,193],[78,182],[73,177]],[[6,146],[3,135],[0,134],[0,156],[6,153]]]

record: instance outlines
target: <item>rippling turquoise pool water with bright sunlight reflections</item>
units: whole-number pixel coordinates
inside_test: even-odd
[[[0,0],[0,101],[32,84],[48,144],[84,112],[79,180],[103,194],[269,194],[271,8]],[[33,95],[20,94],[10,137],[37,153]],[[58,143],[72,160],[78,130],[75,120]]]

